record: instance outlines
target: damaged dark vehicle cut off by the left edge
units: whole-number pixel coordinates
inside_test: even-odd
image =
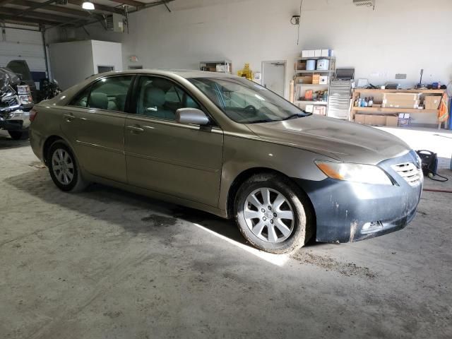
[[[0,68],[0,129],[13,139],[26,138],[32,105],[30,87],[16,73]]]

